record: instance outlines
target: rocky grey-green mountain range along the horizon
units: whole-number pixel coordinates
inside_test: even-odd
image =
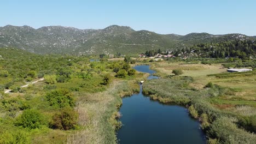
[[[16,47],[34,53],[141,53],[150,49],[179,49],[199,43],[217,43],[226,40],[255,39],[243,34],[187,35],[158,34],[135,31],[127,26],[112,25],[104,29],[77,29],[48,26],[34,29],[30,26],[0,27],[0,47]]]

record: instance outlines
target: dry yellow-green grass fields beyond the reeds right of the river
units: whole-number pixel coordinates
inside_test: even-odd
[[[221,64],[186,64],[183,62],[154,62],[151,63],[152,69],[158,71],[158,75],[173,75],[173,69],[181,69],[181,76],[191,76],[194,82],[190,85],[196,89],[202,89],[208,82],[219,86],[234,89],[231,95],[223,95],[212,101],[213,104],[230,104],[230,105],[250,105],[256,106],[256,75],[223,77],[207,76],[210,74],[228,73],[226,68]]]

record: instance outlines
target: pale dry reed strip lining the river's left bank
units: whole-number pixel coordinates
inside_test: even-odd
[[[117,143],[115,131],[121,127],[118,110],[122,97],[139,92],[138,82],[147,74],[137,74],[131,80],[114,80],[106,91],[80,93],[75,109],[82,130],[68,137],[67,143]]]

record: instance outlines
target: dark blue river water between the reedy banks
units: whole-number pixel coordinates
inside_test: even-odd
[[[149,65],[137,65],[134,69],[155,73]],[[139,94],[123,98],[120,112],[120,143],[205,143],[199,122],[189,117],[187,109],[150,100],[142,94],[142,87]]]

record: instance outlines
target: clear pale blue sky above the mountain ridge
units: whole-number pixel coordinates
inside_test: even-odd
[[[156,33],[256,35],[255,0],[3,0],[0,26],[130,26]]]

